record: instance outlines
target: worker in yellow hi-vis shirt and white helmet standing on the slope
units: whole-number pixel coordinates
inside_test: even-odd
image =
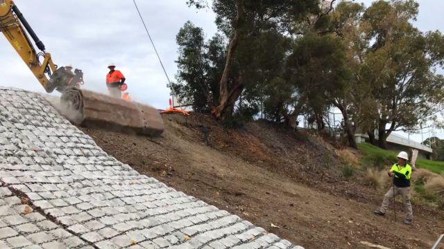
[[[374,213],[384,216],[390,201],[400,194],[402,196],[402,203],[404,203],[404,209],[407,212],[404,223],[411,225],[411,219],[413,219],[413,210],[411,209],[410,203],[411,166],[407,163],[407,160],[409,160],[409,155],[407,152],[401,151],[400,154],[398,154],[398,163],[395,163],[387,172],[388,176],[393,176],[393,186],[385,194],[381,208]]]

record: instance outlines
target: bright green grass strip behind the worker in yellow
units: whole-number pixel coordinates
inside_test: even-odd
[[[360,143],[358,145],[358,148],[359,150],[364,151],[364,153],[367,155],[366,158],[372,158],[372,157],[374,158],[375,156],[384,156],[386,158],[393,159],[393,163],[395,163],[395,158],[396,155],[398,154],[398,151],[389,151],[386,149],[381,149],[374,145],[370,145],[369,143],[366,142]],[[366,158],[364,158],[364,160],[366,160]],[[416,166],[423,169],[429,169],[430,171],[438,174],[444,172],[443,161],[418,158],[418,160],[416,160]]]

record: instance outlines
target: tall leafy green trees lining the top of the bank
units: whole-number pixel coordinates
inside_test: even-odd
[[[399,129],[415,129],[444,110],[444,36],[413,26],[414,0],[188,0],[212,6],[218,35],[185,24],[173,88],[196,111],[293,127],[300,115],[325,127],[331,107],[343,131],[379,131],[379,147]],[[391,160],[386,158],[385,160]],[[382,167],[384,158],[369,158]]]

